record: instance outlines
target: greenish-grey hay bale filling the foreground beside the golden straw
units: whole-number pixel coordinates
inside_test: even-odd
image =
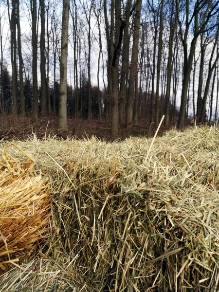
[[[44,264],[0,276],[0,291],[219,291],[217,127],[16,144],[51,176],[53,233]]]

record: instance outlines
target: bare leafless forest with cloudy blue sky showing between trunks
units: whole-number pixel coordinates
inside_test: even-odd
[[[3,119],[105,120],[118,138],[218,121],[218,95],[219,1],[0,1]]]

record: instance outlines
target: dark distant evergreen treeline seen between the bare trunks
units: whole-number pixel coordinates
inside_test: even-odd
[[[0,75],[1,77],[1,75]],[[0,114],[2,116],[9,116],[12,113],[12,76],[8,72],[6,67],[3,67],[2,74],[2,86],[0,87],[0,94],[4,96],[4,102],[1,103]],[[50,94],[50,105],[47,104],[47,108],[50,109],[48,116],[58,115],[58,96],[59,96],[59,83],[55,82],[55,87],[49,87]],[[1,92],[3,91],[3,92]],[[79,104],[78,104],[78,117],[79,119],[88,119],[88,79],[85,75],[82,76],[81,87],[78,88]],[[39,116],[41,116],[41,88],[38,88],[38,102],[39,102]],[[33,83],[30,76],[24,78],[23,94],[25,100],[25,114],[26,116],[32,116],[32,97],[33,97]],[[91,99],[92,99],[92,118],[96,120],[107,119],[107,105],[109,104],[108,95],[105,90],[99,90],[97,86],[91,86]],[[146,92],[141,92],[141,98],[139,103],[142,105],[140,108],[147,108],[147,101],[149,100]],[[101,106],[99,107],[99,101]],[[164,114],[164,99],[160,98],[162,107],[161,114]],[[170,103],[170,116],[173,112],[173,106]],[[177,116],[179,111],[177,110]],[[20,95],[19,95],[19,84],[18,84],[18,115],[21,115],[20,107]],[[67,84],[67,115],[69,118],[75,118],[75,92],[72,85]],[[147,120],[150,116],[146,110],[141,110],[139,113],[141,119]],[[124,121],[125,124],[125,121]]]

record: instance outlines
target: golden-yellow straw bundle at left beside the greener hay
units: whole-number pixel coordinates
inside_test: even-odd
[[[6,149],[0,157],[0,273],[30,256],[49,231],[49,180],[27,156],[23,166]]]

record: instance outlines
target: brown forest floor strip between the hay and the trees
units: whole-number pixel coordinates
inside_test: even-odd
[[[38,139],[43,139],[50,136],[62,137],[76,137],[78,139],[90,138],[95,136],[98,139],[105,139],[111,141],[110,133],[110,121],[107,120],[87,120],[76,121],[74,119],[68,119],[69,131],[65,135],[60,136],[58,134],[58,118],[46,117],[39,118],[34,121],[32,118],[19,118],[19,117],[0,117],[0,140],[13,140],[18,139],[24,141],[28,137],[36,134]],[[173,126],[164,127],[161,126],[158,135],[162,135],[167,130],[174,128]],[[154,123],[149,124],[145,120],[140,120],[137,125],[133,125],[130,129],[126,125],[121,126],[121,139],[125,139],[129,136],[134,137],[153,137],[156,131]]]

